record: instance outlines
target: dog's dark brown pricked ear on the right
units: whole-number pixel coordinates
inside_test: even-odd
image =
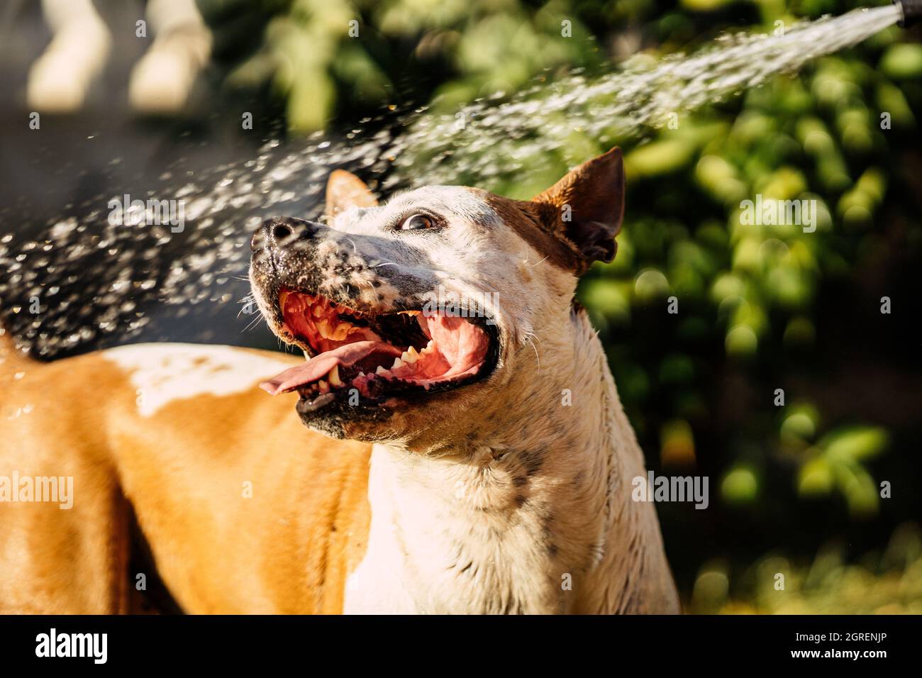
[[[624,218],[621,149],[584,162],[532,202],[544,227],[573,250],[576,275],[585,273],[594,261],[611,261]]]

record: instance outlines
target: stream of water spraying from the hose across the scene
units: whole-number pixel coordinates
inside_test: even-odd
[[[899,18],[899,8],[882,6],[800,21],[783,34],[728,34],[694,54],[640,55],[608,74],[574,72],[460,110],[424,107],[396,121],[360,121],[337,138],[269,141],[254,158],[206,170],[190,172],[179,159],[132,198],[182,200],[182,231],[112,223],[113,196],[103,194],[51,220],[38,238],[0,221],[0,318],[39,357],[128,339],[252,343],[240,334],[258,318],[252,305],[236,319],[248,288],[248,235],[270,215],[317,218],[331,169],[378,177],[385,195],[420,184],[495,188],[540,172],[542,157],[575,128],[605,144],[642,137],[671,113],[795,73]],[[236,330],[223,331],[229,318]]]

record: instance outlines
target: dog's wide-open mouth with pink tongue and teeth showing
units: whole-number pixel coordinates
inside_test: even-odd
[[[302,412],[356,395],[367,405],[455,388],[484,378],[496,365],[497,333],[485,318],[374,314],[285,289],[278,309],[290,343],[305,350],[307,361],[260,387],[272,395],[297,390]]]

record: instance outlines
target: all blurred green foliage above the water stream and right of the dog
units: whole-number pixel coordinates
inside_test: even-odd
[[[435,97],[450,106],[573,67],[600,71],[641,51],[691,50],[722,29],[768,32],[777,20],[789,25],[858,6],[851,0],[199,5],[216,30],[228,85],[270,87],[295,132],[323,127],[337,113],[348,122],[383,103]],[[242,30],[234,18],[244,7]],[[352,20],[359,39],[349,37]],[[563,21],[570,22],[570,40],[561,39]],[[592,138],[574,129],[567,144],[541,159],[550,175],[560,176],[612,141],[625,148],[629,196],[618,256],[584,277],[579,296],[600,329],[650,466],[713,479],[716,517],[659,507],[692,611],[922,611],[915,532],[894,533],[892,543],[901,545],[888,553],[903,550],[899,566],[886,558],[844,565],[823,552],[798,569],[771,556],[749,568],[741,577],[749,588],[736,592],[727,574],[735,561],[694,574],[713,553],[756,558],[779,543],[801,556],[815,553],[832,530],[873,545],[898,522],[899,511],[884,508],[898,500],[881,498],[880,483],[917,473],[916,458],[888,453],[900,440],[917,440],[917,417],[915,428],[891,431],[878,420],[904,420],[891,417],[886,403],[869,407],[869,398],[844,392],[842,384],[851,373],[900,373],[901,361],[917,349],[894,343],[898,333],[881,322],[890,316],[880,308],[881,296],[900,291],[922,265],[915,197],[922,193],[915,113],[922,106],[922,46],[907,40],[904,30],[884,30],[797,77],[775,77],[643,139]],[[889,128],[881,125],[884,113]],[[527,196],[534,186],[523,181],[492,188]],[[745,223],[740,202],[756,194],[815,200],[816,231]],[[669,297],[678,300],[675,315],[666,311]],[[881,398],[896,388],[892,383],[876,385]],[[778,388],[786,391],[784,405],[774,401]],[[907,408],[917,412],[913,397]],[[881,465],[888,458],[889,466]],[[917,499],[902,496],[904,512],[918,509]],[[786,592],[773,589],[772,577],[760,574],[765,568],[788,573]]]

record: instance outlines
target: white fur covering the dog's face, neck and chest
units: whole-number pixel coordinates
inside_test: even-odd
[[[396,230],[417,212],[443,227]],[[311,266],[332,275],[354,259],[352,286],[384,292],[374,305],[437,285],[497,294],[502,337],[488,379],[369,425],[388,443],[372,452],[368,550],[345,612],[678,611],[655,508],[631,500],[644,458],[601,343],[573,310],[573,273],[456,186],[347,209],[318,241]]]

